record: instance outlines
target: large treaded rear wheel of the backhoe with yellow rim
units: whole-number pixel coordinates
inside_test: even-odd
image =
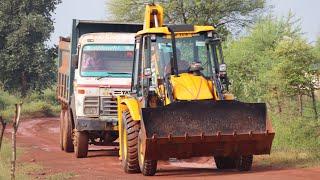
[[[126,173],[139,173],[138,160],[138,135],[140,130],[140,123],[131,118],[130,112],[125,111],[122,114],[122,167]]]

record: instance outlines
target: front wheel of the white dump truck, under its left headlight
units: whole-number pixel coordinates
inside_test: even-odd
[[[86,158],[88,156],[89,138],[85,131],[74,132],[74,153],[77,158]]]

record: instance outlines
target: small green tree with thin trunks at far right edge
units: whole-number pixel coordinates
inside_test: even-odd
[[[314,97],[314,77],[317,70],[312,68],[317,59],[313,53],[313,47],[300,38],[285,38],[277,45],[275,55],[280,61],[278,64],[279,76],[285,80],[283,81],[285,93],[291,97],[298,97],[301,115],[303,110],[302,96],[311,97],[314,114],[317,118]]]

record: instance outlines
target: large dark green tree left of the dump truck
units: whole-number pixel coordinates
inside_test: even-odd
[[[54,80],[54,61],[45,42],[60,0],[1,0],[0,82],[5,90],[42,90]]]

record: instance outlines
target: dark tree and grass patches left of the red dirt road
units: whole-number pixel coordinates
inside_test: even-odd
[[[58,111],[53,85],[57,48],[47,41],[54,30],[52,15],[61,0],[1,0],[0,3],[0,116],[13,119],[16,103],[22,118],[54,116]],[[21,153],[21,149],[18,149]],[[11,147],[0,152],[0,179],[10,179]],[[35,163],[17,164],[16,179],[34,179]]]

